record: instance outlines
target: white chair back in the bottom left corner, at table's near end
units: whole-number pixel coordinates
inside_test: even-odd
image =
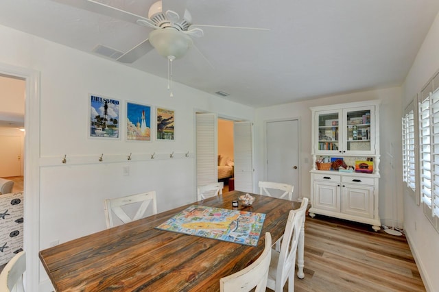
[[[23,273],[26,271],[26,254],[19,252],[0,273],[1,292],[24,292]]]

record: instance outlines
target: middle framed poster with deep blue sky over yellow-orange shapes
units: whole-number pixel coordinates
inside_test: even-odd
[[[151,141],[151,107],[126,103],[126,140]]]

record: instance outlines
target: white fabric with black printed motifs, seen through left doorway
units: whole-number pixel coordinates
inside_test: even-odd
[[[0,195],[0,265],[23,250],[23,193]]]

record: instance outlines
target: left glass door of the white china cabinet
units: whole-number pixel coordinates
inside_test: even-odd
[[[317,151],[339,151],[340,149],[340,112],[319,112]]]

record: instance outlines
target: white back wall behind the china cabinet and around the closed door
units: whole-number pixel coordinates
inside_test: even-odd
[[[311,106],[324,106],[330,104],[344,104],[346,102],[364,101],[380,99],[380,153],[381,163],[379,165],[381,179],[379,180],[379,216],[381,223],[391,224],[392,219],[392,200],[390,194],[393,191],[399,196],[399,213],[396,221],[402,225],[403,221],[403,199],[401,195],[401,186],[396,189],[394,182],[402,180],[401,171],[392,171],[390,169],[390,156],[387,153],[394,154],[394,157],[401,157],[401,88],[386,88],[379,90],[370,90],[360,93],[351,93],[346,95],[337,95],[313,99],[309,101],[300,101],[292,104],[283,104],[281,106],[272,106],[268,108],[259,108],[256,110],[254,147],[256,158],[255,181],[263,180],[265,164],[265,134],[264,121],[270,119],[287,119],[300,118],[300,192],[299,197],[310,197],[311,189]],[[393,147],[392,147],[393,145]],[[394,161],[395,169],[401,169],[401,161]]]

